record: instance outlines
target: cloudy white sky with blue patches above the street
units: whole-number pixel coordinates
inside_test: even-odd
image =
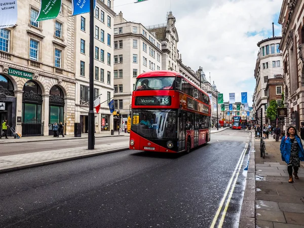
[[[167,12],[176,18],[177,48],[183,64],[197,70],[200,66],[211,83],[229,101],[229,93],[248,92],[252,104],[257,43],[281,35],[278,18],[282,0],[115,0],[114,11],[127,21],[144,26],[166,22]]]

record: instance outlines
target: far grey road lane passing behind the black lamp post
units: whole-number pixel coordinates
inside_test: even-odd
[[[129,141],[127,136],[117,136],[117,137],[102,137],[95,139],[95,145],[109,144],[111,142],[125,142]],[[65,148],[75,148],[81,146],[87,146],[87,138],[79,139],[66,139],[66,140],[53,140],[53,141],[38,141],[38,142],[15,142],[15,143],[3,143],[1,144],[1,156],[8,155],[20,155],[28,154],[40,151],[65,149]]]

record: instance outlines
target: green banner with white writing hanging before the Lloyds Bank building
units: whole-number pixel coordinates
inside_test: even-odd
[[[36,21],[54,19],[61,8],[61,0],[41,0],[41,8]]]

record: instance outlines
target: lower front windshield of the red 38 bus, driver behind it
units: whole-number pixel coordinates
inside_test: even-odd
[[[131,130],[149,139],[176,139],[176,110],[133,109]]]

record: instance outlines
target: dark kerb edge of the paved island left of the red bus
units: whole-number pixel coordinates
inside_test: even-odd
[[[74,157],[67,157],[64,159],[54,159],[48,162],[36,162],[36,163],[29,163],[26,165],[22,166],[16,166],[16,167],[11,167],[7,169],[1,169],[0,173],[8,173],[12,171],[17,171],[17,170],[22,170],[22,169],[28,169],[28,168],[33,168],[33,167],[39,167],[39,166],[45,166],[45,165],[51,165],[51,164],[56,164],[56,163],[61,163],[61,162],[68,162],[68,161],[73,161],[73,160],[78,160],[78,159],[83,159],[83,158],[90,158],[102,154],[110,154],[110,153],[115,153],[123,150],[128,150],[129,147],[124,147],[124,148],[119,148],[119,149],[112,149],[112,150],[104,150],[104,151],[96,151],[91,154],[87,155],[81,155],[81,156],[74,156]]]

